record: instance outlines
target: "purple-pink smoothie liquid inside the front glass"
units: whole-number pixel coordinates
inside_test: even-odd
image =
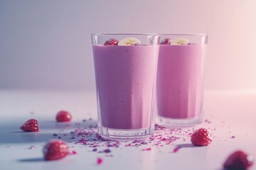
[[[105,128],[149,128],[159,49],[155,45],[92,45],[98,109]]]

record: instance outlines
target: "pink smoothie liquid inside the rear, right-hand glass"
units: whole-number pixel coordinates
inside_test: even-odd
[[[196,118],[203,102],[203,55],[206,45],[160,45],[156,81],[158,115]]]

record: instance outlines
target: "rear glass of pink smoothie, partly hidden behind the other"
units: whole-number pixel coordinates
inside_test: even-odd
[[[191,126],[203,119],[205,34],[162,34],[156,80],[156,123]]]

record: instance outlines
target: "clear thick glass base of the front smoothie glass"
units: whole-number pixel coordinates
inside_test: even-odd
[[[150,137],[154,128],[146,129],[112,129],[98,126],[98,133],[107,140],[138,140]]]

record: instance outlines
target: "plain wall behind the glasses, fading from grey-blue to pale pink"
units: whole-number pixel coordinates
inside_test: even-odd
[[[0,1],[0,88],[95,90],[90,33],[208,33],[205,88],[256,89],[256,1]]]

